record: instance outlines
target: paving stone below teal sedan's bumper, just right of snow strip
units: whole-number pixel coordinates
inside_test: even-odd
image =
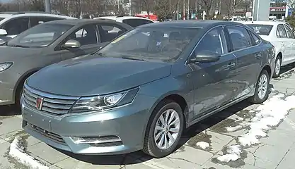
[[[33,146],[28,146],[27,151],[30,154],[34,154],[35,156],[38,156],[39,158],[42,158],[43,160],[51,164],[57,163],[58,161],[62,161],[65,158],[68,158],[68,156],[66,156],[65,154],[62,154],[61,152],[57,151],[56,149],[53,149],[51,146],[48,146],[43,142],[40,142]]]

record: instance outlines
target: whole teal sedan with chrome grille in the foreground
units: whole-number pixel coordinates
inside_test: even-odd
[[[216,20],[141,25],[95,54],[28,77],[23,128],[74,154],[172,153],[185,128],[269,95],[274,46]]]

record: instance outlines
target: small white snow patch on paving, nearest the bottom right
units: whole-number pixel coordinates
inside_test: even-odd
[[[237,161],[238,158],[241,158],[242,150],[240,145],[228,146],[226,152],[227,154],[219,156],[217,160],[220,162],[229,163],[229,161]]]

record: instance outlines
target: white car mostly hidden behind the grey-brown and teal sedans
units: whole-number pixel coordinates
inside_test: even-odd
[[[102,16],[93,19],[100,20],[115,20],[120,23],[126,23],[132,27],[138,27],[140,25],[145,25],[149,23],[155,23],[155,21],[150,20],[148,18],[138,17],[138,16]]]

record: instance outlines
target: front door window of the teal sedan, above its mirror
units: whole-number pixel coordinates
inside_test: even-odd
[[[226,53],[226,40],[222,27],[216,27],[213,30],[207,32],[201,42],[199,42],[197,45],[197,48],[195,49],[195,55],[197,55],[200,51],[212,51],[218,55]]]

